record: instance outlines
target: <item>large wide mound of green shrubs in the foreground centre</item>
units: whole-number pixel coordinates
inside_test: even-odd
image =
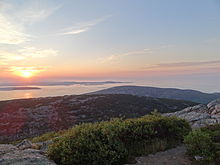
[[[147,115],[75,126],[55,140],[48,156],[60,165],[117,165],[132,156],[173,147],[191,130],[182,119]]]

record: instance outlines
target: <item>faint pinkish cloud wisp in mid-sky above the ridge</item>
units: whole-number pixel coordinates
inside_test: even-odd
[[[113,55],[101,58],[99,61],[110,62],[110,61],[118,60],[119,58],[122,58],[122,57],[134,56],[134,55],[148,55],[151,53],[153,53],[152,49],[143,49],[143,50],[137,50],[137,51],[130,51],[126,53],[113,54]]]

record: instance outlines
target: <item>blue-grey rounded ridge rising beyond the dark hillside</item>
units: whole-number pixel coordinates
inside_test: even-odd
[[[90,94],[131,94],[135,96],[186,100],[203,104],[220,98],[220,93],[203,93],[190,89],[157,88],[149,86],[117,86]]]

